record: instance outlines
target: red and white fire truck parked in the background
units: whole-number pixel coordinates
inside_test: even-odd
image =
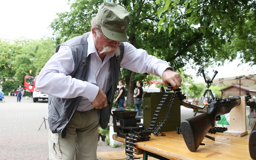
[[[36,89],[36,77],[25,76],[24,78],[24,89],[33,92],[33,102],[37,102],[38,99],[48,100],[48,95]]]

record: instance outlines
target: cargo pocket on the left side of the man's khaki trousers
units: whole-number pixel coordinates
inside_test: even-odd
[[[58,133],[52,133],[50,130],[49,132],[49,160],[62,158],[62,153],[59,146],[59,135]]]

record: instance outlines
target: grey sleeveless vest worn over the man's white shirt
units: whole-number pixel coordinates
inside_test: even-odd
[[[75,68],[73,73],[70,74],[72,78],[76,78],[82,81],[86,81],[88,78],[88,69],[90,67],[90,55],[87,57],[88,42],[87,38],[91,32],[87,32],[82,36],[78,36],[60,44],[56,48],[56,53],[61,45],[70,47],[74,57]],[[114,55],[110,58],[110,71],[111,71],[111,87],[107,91],[107,101],[111,101],[107,107],[104,107],[100,111],[100,126],[102,129],[107,128],[108,121],[110,119],[111,108],[114,99],[114,93],[117,90],[120,63],[123,58],[124,45],[120,44],[120,57]],[[64,84],[63,84],[64,85]],[[49,128],[52,133],[58,133],[62,138],[66,135],[66,125],[71,120],[78,105],[82,99],[82,96],[75,98],[58,98],[49,96],[48,110],[49,110]]]

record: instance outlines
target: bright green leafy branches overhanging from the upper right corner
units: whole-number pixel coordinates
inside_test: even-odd
[[[181,24],[191,26],[200,30],[204,34],[199,34],[200,37],[206,41],[209,34],[212,36],[212,43],[216,44],[209,49],[216,53],[209,57],[217,58],[214,58],[215,62],[220,61],[217,64],[221,65],[224,59],[235,59],[237,53],[245,63],[256,64],[255,0],[156,0],[156,6],[159,6],[158,17],[161,18],[158,32],[162,30],[172,36],[179,33],[177,30]],[[198,35],[198,32],[193,34]],[[198,40],[195,37],[194,41],[186,44],[193,45]]]

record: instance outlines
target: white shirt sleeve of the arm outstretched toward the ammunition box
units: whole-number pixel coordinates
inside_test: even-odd
[[[167,68],[174,71],[166,61],[149,55],[144,49],[137,49],[129,43],[125,43],[125,46],[124,56],[121,61],[123,68],[137,73],[150,73],[160,77]]]

